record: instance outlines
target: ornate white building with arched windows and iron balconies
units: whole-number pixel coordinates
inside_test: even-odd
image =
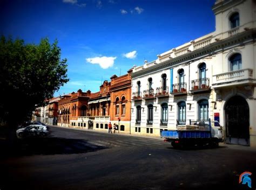
[[[135,67],[131,132],[218,120],[226,143],[256,146],[256,2],[216,1],[216,30]]]

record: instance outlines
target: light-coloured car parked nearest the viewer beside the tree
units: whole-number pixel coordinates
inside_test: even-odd
[[[50,134],[50,129],[46,125],[32,124],[25,128],[18,129],[16,135],[18,138],[25,137],[44,137]]]

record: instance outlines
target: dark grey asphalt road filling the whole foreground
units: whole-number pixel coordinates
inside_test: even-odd
[[[0,189],[255,189],[256,151],[176,150],[163,139],[51,127],[0,155]],[[252,172],[252,188],[239,184]]]

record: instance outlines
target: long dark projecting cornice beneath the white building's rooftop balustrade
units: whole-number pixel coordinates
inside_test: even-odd
[[[192,51],[190,53],[186,53],[184,55],[180,55],[179,57],[173,58],[171,60],[161,62],[160,64],[151,66],[149,68],[145,68],[136,73],[132,73],[132,78],[134,79],[134,78],[138,78],[139,76],[155,73],[162,69],[167,69],[180,64],[184,64],[184,62],[196,61],[197,59],[202,59],[209,55],[216,54],[219,51],[232,48],[235,44],[241,45],[241,44],[250,43],[250,41],[255,40],[255,38],[256,38],[256,29],[241,32],[233,37],[216,41],[198,50]]]

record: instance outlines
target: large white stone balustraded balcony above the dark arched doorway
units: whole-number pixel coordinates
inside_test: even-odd
[[[238,86],[253,83],[253,69],[240,69],[213,75],[212,88]]]

